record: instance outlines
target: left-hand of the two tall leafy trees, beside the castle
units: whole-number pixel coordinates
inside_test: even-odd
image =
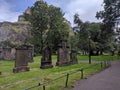
[[[26,16],[30,22],[32,43],[36,53],[40,53],[44,46],[44,37],[49,25],[48,5],[44,1],[36,1],[31,7],[30,14]]]

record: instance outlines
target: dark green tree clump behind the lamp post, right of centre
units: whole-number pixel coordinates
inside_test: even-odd
[[[77,31],[78,45],[77,47],[83,51],[88,52],[89,36],[90,36],[90,46],[91,46],[91,55],[99,55],[100,52],[103,52],[103,42],[104,39],[101,35],[101,23],[90,23],[82,22],[79,19],[79,15],[74,16],[74,22],[76,27],[74,29]]]

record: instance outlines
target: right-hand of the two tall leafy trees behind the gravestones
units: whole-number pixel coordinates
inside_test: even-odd
[[[69,25],[61,9],[53,5],[49,6],[49,33],[48,33],[48,43],[51,44],[53,51],[57,50],[57,46],[61,39],[67,39],[69,36]]]

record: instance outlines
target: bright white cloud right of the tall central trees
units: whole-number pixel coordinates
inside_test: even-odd
[[[95,18],[96,12],[102,10],[103,0],[71,0],[66,4],[65,17],[73,25],[73,15],[78,13],[83,21],[98,21]]]

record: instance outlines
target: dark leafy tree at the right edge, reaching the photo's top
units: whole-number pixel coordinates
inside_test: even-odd
[[[117,19],[120,18],[120,0],[104,0],[104,10],[96,13],[98,19],[102,19],[101,42],[105,45],[115,40],[114,30]],[[114,39],[113,39],[114,37]]]

